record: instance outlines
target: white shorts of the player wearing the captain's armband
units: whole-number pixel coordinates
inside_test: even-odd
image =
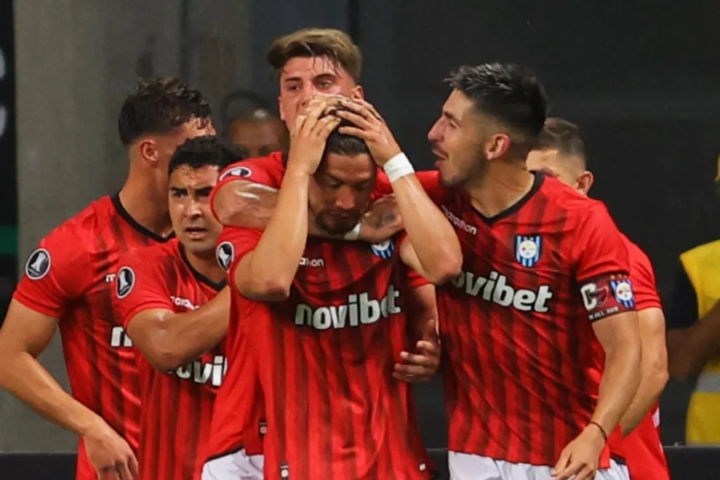
[[[448,452],[450,480],[552,480],[549,466],[510,463],[469,453]],[[630,480],[627,466],[614,460],[598,470],[595,480]]]

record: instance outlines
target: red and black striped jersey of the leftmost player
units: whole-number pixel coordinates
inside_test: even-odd
[[[71,392],[138,449],[140,377],[132,342],[113,312],[120,256],[163,243],[120,204],[104,196],[63,222],[30,255],[13,298],[59,319]],[[78,480],[94,480],[82,442]]]

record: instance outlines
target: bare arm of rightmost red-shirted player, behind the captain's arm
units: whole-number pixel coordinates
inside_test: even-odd
[[[642,360],[640,386],[630,407],[620,420],[623,435],[634,430],[647,415],[667,383],[667,350],[665,349],[665,315],[657,307],[637,313]]]

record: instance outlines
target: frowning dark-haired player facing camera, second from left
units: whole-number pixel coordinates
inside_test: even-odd
[[[119,262],[117,312],[143,354],[138,356],[142,479],[193,480],[202,470],[212,404],[228,366],[225,343],[220,340],[225,329],[217,328],[227,323],[227,296],[217,299],[212,309],[225,322],[207,321],[207,312],[204,317],[198,314],[199,307],[225,286],[225,271],[215,259],[222,226],[212,217],[208,199],[220,170],[240,158],[238,148],[217,137],[195,137],[180,145],[169,166],[170,218],[176,238],[125,253]],[[158,348],[168,335],[179,343],[195,343],[194,339],[208,336],[203,330],[213,326],[215,344],[207,345],[204,352],[194,345],[188,348],[184,366],[166,361],[167,348]]]

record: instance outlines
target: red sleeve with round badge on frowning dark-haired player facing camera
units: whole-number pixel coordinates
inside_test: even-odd
[[[122,327],[149,309],[173,310],[168,280],[157,264],[156,248],[133,250],[120,258],[115,275],[114,305]]]

